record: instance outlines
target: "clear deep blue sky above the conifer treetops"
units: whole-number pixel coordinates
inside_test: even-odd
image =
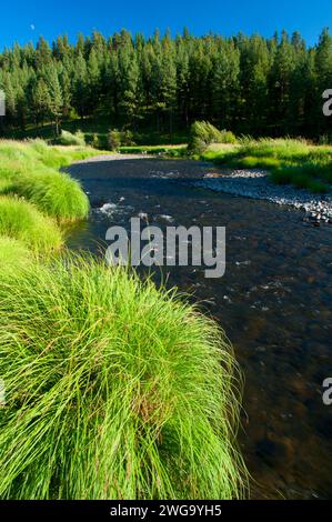
[[[172,34],[184,26],[201,36],[209,31],[224,36],[242,31],[265,37],[274,30],[300,30],[313,44],[323,27],[332,30],[331,0],[13,0],[1,2],[0,49],[14,41],[36,42],[42,34],[52,40],[78,32],[104,34],[122,28],[150,36],[155,28]]]

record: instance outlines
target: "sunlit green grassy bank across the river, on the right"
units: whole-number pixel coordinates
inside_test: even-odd
[[[266,169],[274,183],[324,193],[332,183],[332,147],[304,140],[240,140],[237,144],[212,144],[200,158],[231,168]]]

